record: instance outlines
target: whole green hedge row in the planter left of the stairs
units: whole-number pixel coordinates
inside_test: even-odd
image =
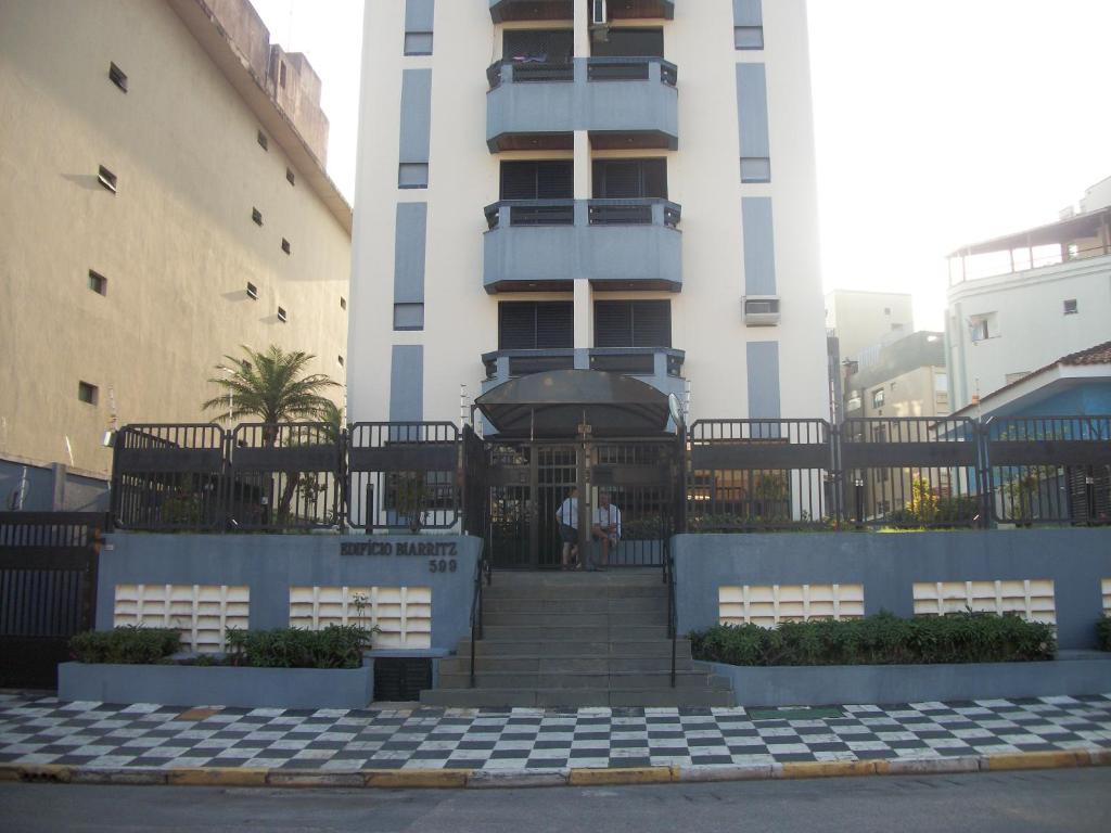
[[[228,631],[228,653],[202,654],[182,664],[249,665],[262,669],[357,669],[370,648],[371,631],[354,625],[329,625],[320,631],[279,628],[273,631]],[[176,630],[128,625],[89,631],[70,640],[78,662],[153,665],[169,663],[181,650]]]

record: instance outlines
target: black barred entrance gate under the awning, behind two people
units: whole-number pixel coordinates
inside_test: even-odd
[[[609,565],[661,566],[675,529],[681,491],[677,451],[671,438],[487,443],[482,473],[489,488],[492,565],[558,569],[562,545],[557,511],[571,490],[584,482],[589,499],[583,505],[591,515],[602,493],[620,512],[621,538]],[[474,468],[468,463],[469,471]],[[584,513],[583,522],[588,520]]]

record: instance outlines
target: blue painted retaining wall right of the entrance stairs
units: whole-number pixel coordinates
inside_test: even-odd
[[[1111,529],[677,535],[680,633],[718,623],[718,589],[863,584],[864,612],[914,614],[915,582],[1050,579],[1061,649],[1095,646]]]

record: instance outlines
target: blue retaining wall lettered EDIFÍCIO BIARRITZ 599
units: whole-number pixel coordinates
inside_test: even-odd
[[[368,543],[373,551],[359,548]],[[434,554],[428,549],[433,545]],[[456,571],[432,572],[430,559],[439,561],[451,546]],[[344,549],[358,554],[342,554]],[[429,586],[432,650],[404,654],[442,654],[470,635],[474,569],[481,553],[482,541],[468,535],[116,533],[100,553],[97,629],[112,628],[117,584],[246,584],[252,630],[289,625],[290,586]]]

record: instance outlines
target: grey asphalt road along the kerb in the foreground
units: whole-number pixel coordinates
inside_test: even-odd
[[[1111,831],[1111,769],[536,790],[0,784],[4,833]]]

